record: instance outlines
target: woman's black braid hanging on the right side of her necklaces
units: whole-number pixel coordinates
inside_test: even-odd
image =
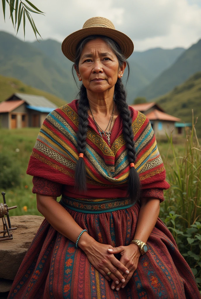
[[[132,129],[132,118],[130,116],[130,110],[126,102],[126,91],[121,79],[117,79],[115,84],[115,103],[117,109],[120,112],[123,121],[123,135],[126,141],[127,157],[129,163],[134,163],[136,159],[135,141]],[[135,167],[130,168],[130,174],[128,178],[128,193],[132,202],[136,202],[140,197],[140,179]]]

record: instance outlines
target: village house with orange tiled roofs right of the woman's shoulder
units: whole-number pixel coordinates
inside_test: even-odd
[[[142,112],[150,120],[151,126],[156,137],[165,137],[166,133],[170,135],[182,134],[187,124],[180,123],[180,118],[165,113],[165,111],[155,102],[131,105],[135,110]],[[190,126],[191,124],[188,124]]]

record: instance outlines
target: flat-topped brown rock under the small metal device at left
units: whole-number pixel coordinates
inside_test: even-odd
[[[13,239],[0,241],[0,278],[14,280],[20,264],[44,217],[23,215],[10,217]],[[0,230],[3,223],[0,225]],[[1,283],[0,283],[1,284]]]

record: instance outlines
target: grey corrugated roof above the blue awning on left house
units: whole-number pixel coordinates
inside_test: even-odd
[[[15,93],[15,95],[16,97],[19,97],[19,99],[24,100],[30,106],[57,108],[57,106],[55,106],[52,102],[40,95],[23,94],[18,92]]]

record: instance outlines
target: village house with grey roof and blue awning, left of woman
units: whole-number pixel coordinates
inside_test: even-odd
[[[46,116],[56,108],[45,97],[15,93],[0,103],[0,126],[8,129],[41,127]]]

